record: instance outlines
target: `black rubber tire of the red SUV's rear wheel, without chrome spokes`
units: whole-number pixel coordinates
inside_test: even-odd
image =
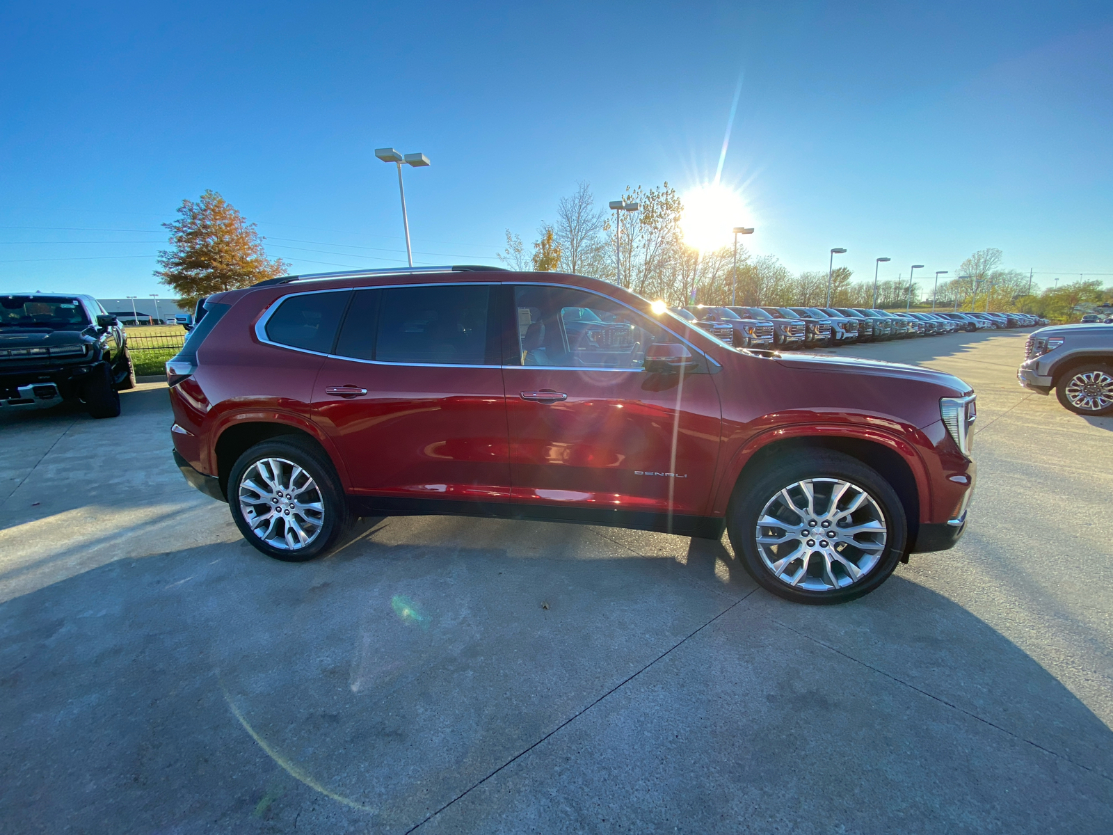
[[[257,491],[253,492],[250,488],[244,484],[245,474],[248,475],[248,481],[258,478],[256,483],[263,482],[262,487],[272,487],[262,477],[259,470],[256,470],[255,474],[250,472],[252,468],[264,461],[262,465],[264,470],[272,477],[275,475],[273,464],[267,463],[265,460],[279,460],[285,462],[285,464],[293,464],[301,468],[313,480],[315,488],[305,490],[307,482],[299,482],[293,478],[287,480],[293,470],[286,468],[285,464],[279,464],[282,472],[274,481],[280,487],[283,480],[287,480],[287,484],[293,484],[293,487],[286,487],[286,490],[289,492],[283,495],[280,503],[275,501],[275,497],[280,493],[273,490],[262,495],[262,501],[250,502],[249,500],[255,498],[255,492]],[[299,483],[304,492],[294,489]],[[314,492],[319,502],[313,502]],[[305,562],[327,552],[336,546],[354,521],[348,510],[347,500],[344,497],[341,480],[336,475],[336,469],[333,466],[332,461],[328,460],[328,456],[315,443],[296,436],[263,441],[240,455],[228,474],[227,494],[232,519],[235,521],[236,527],[239,528],[239,532],[244,536],[244,539],[267,557],[273,557],[283,562]],[[268,530],[272,533],[270,541],[267,541],[253,530],[253,520],[249,520],[245,515],[248,511],[245,510],[240,502],[242,494],[248,500],[250,512],[258,514],[254,520],[256,525],[262,527],[264,523],[268,525]],[[319,520],[316,517],[316,511],[305,510],[307,504],[303,504],[301,510],[295,507],[296,499],[299,495],[311,500],[311,503],[321,504],[322,515]],[[287,505],[285,509],[283,509],[284,504]],[[263,508],[267,509],[267,515],[263,515]],[[274,513],[274,510],[282,510],[283,515]],[[268,522],[267,520],[272,515],[275,521]],[[293,525],[288,521],[290,518],[293,518]],[[297,531],[302,530],[305,533],[302,525],[306,525],[306,530],[313,528],[313,525],[316,525],[316,528],[308,542],[296,544]],[[264,531],[264,533],[267,533],[267,531]],[[279,542],[282,544],[276,546],[272,544],[272,542]]]

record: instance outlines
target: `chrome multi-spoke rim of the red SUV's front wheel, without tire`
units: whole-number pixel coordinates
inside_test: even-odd
[[[885,515],[874,498],[839,479],[789,484],[758,517],[758,553],[781,582],[808,591],[853,586],[885,552]]]

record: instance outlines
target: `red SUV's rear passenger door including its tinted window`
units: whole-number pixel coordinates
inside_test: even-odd
[[[506,501],[496,288],[355,292],[313,394],[355,493]]]

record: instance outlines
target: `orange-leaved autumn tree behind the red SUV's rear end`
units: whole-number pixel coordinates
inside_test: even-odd
[[[289,267],[282,258],[267,258],[255,224],[216,191],[205,191],[196,203],[183,200],[178,216],[162,224],[173,248],[159,252],[162,268],[155,275],[189,307],[203,296],[249,287]]]

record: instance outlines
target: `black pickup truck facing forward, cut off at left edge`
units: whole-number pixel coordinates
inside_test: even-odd
[[[93,418],[115,418],[119,392],[134,386],[127,335],[96,298],[0,295],[0,409],[72,401]]]

